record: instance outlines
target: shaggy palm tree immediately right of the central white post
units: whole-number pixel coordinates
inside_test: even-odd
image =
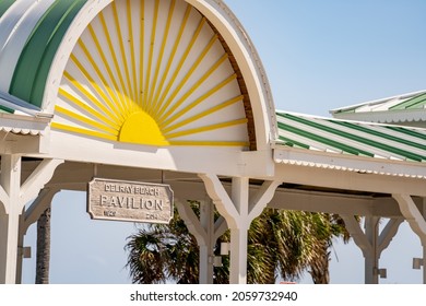
[[[265,209],[248,235],[249,283],[275,283],[277,278],[294,281],[313,256],[313,236],[305,212]]]

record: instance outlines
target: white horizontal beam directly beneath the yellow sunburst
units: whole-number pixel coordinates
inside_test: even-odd
[[[50,137],[52,139],[50,150],[47,154],[39,155],[40,157],[185,173],[214,173],[225,176],[268,177],[272,174],[271,167],[267,167],[264,154],[259,153],[257,163],[248,166],[245,161],[246,153],[235,148],[157,148],[100,141],[55,130],[51,131]],[[193,156],[202,157],[193,158]],[[206,156],[209,156],[208,161]],[[252,160],[255,156],[249,161]]]

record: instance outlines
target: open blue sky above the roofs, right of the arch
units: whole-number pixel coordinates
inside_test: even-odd
[[[253,40],[279,109],[328,115],[425,87],[425,1],[225,2]]]

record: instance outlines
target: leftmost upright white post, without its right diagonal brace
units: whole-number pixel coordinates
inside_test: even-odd
[[[0,283],[16,282],[16,260],[19,225],[22,207],[20,205],[21,156],[2,155],[0,186],[2,188],[0,212]],[[4,197],[7,196],[7,197]]]

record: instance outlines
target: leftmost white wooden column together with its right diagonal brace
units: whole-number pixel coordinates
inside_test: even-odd
[[[0,173],[0,283],[16,282],[20,219],[63,161],[44,160],[21,185],[21,156],[2,155]]]

